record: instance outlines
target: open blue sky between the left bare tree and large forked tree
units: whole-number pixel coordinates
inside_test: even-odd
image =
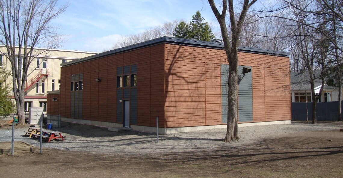
[[[218,30],[207,0],[71,0],[69,4],[66,12],[53,21],[66,35],[60,49],[102,52],[121,35],[175,19],[189,22],[197,10],[214,31]]]

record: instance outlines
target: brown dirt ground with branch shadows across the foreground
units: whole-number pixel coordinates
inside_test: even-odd
[[[227,149],[141,155],[44,150],[43,154],[0,155],[0,177],[343,177],[342,159],[343,132],[309,131]]]

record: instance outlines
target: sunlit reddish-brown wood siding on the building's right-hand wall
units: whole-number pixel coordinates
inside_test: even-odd
[[[252,66],[253,122],[289,120],[289,58],[239,52],[238,59]],[[165,45],[166,127],[222,124],[220,64],[228,64],[223,50]]]

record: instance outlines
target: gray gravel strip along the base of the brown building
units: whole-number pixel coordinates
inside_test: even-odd
[[[64,141],[52,140],[43,142],[43,147],[71,151],[89,151],[98,154],[144,154],[144,153],[177,153],[221,148],[253,147],[269,137],[283,137],[308,131],[334,131],[343,128],[343,122],[326,122],[306,124],[277,124],[264,126],[246,126],[238,129],[240,141],[224,143],[226,129],[208,129],[195,132],[159,135],[129,131],[111,132],[104,127],[62,122],[60,129]],[[39,139],[23,136],[27,128],[15,129],[15,141],[25,141],[39,147]],[[11,141],[12,130],[0,128],[0,141]]]

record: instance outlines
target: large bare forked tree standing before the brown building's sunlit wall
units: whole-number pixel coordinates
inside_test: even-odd
[[[226,52],[226,56],[229,63],[229,75],[228,75],[228,106],[227,111],[227,130],[226,136],[224,138],[225,142],[236,141],[239,139],[238,137],[238,116],[237,116],[237,84],[238,84],[238,45],[239,45],[239,37],[240,33],[244,24],[244,20],[246,18],[248,9],[250,6],[255,3],[257,0],[244,0],[242,4],[242,9],[238,14],[238,20],[235,18],[234,12],[234,4],[233,0],[223,0],[222,3],[222,13],[220,13],[217,9],[216,4],[213,0],[208,0],[211,6],[211,9],[218,20],[220,25],[220,29],[222,31],[222,37],[224,42],[224,48]],[[230,31],[231,35],[228,35],[227,25],[226,25],[226,11],[229,11],[229,18],[230,18]]]

